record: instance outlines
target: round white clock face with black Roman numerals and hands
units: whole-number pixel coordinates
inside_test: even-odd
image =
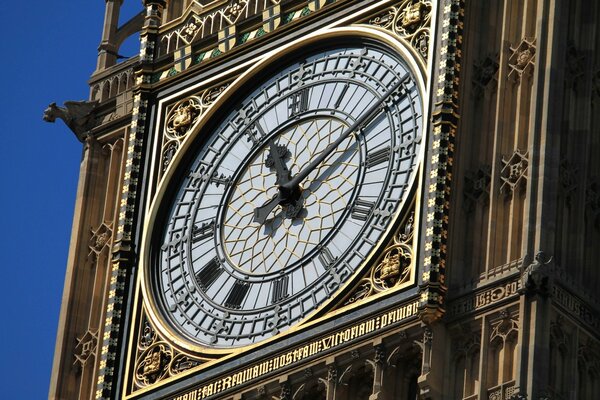
[[[160,206],[152,296],[194,345],[254,344],[313,313],[365,263],[412,182],[421,98],[396,51],[351,39],[285,58],[198,133]]]

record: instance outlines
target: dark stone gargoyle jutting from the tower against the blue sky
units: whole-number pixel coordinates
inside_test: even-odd
[[[54,122],[56,118],[61,118],[77,136],[77,140],[83,143],[96,124],[94,111],[97,106],[97,101],[65,101],[64,107],[52,103],[44,111],[44,121]]]

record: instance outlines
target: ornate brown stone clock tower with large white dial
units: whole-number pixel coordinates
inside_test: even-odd
[[[600,6],[122,3],[50,398],[600,392]]]

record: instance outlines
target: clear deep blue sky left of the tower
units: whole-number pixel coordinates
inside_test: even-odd
[[[85,100],[105,0],[16,1],[0,15],[2,398],[48,396],[82,145],[42,121],[51,102]],[[142,9],[125,0],[122,17]],[[121,54],[133,55],[136,43]]]

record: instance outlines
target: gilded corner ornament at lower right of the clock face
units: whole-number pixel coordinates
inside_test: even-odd
[[[392,243],[384,250],[382,259],[358,282],[343,304],[352,304],[408,282],[414,269],[413,235],[414,214],[411,213]]]

